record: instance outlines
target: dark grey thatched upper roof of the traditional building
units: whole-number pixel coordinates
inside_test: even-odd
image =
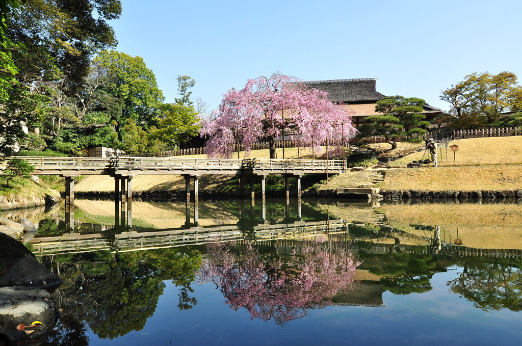
[[[331,102],[375,102],[385,95],[375,90],[377,78],[303,81],[309,88],[326,91]]]

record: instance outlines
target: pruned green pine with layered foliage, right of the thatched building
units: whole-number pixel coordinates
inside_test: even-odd
[[[425,134],[425,127],[430,126],[430,122],[424,121],[425,116],[419,114],[425,103],[422,99],[402,96],[387,96],[377,101],[375,111],[383,115],[367,117],[366,121],[369,123],[359,128],[359,137],[383,136],[392,145],[392,149],[395,149],[398,138]]]

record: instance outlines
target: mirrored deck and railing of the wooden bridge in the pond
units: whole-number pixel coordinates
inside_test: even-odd
[[[201,245],[229,241],[277,241],[293,237],[313,237],[343,233],[348,230],[344,220],[295,221],[282,224],[257,224],[250,228],[240,224],[210,227],[193,226],[137,232],[128,228],[101,226],[100,233],[67,233],[37,236],[32,240],[36,255],[72,254],[110,250],[112,252]]]

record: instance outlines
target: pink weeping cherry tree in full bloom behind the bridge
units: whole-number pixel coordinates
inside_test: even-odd
[[[341,127],[341,124],[344,124]],[[273,74],[248,79],[241,90],[230,89],[218,110],[201,122],[201,136],[209,136],[207,154],[231,157],[236,146],[249,152],[254,143],[268,137],[270,158],[277,158],[276,138],[283,133],[299,136],[303,146],[339,142],[354,132],[350,113],[328,101],[327,94],[307,88],[301,80]]]

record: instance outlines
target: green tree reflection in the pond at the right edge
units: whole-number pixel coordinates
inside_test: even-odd
[[[522,261],[470,258],[462,263],[458,278],[447,284],[450,290],[484,311],[507,308],[522,310]]]

